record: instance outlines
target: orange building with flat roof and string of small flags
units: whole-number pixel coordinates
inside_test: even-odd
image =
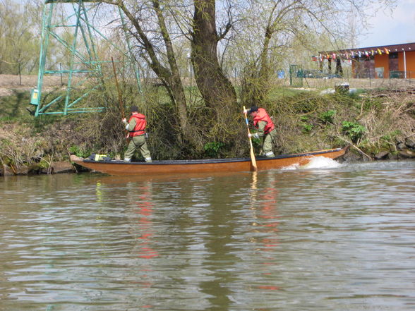
[[[415,42],[380,47],[361,47],[338,51],[320,51],[313,61],[327,61],[329,73],[342,75],[342,62],[351,63],[353,78],[415,78]]]

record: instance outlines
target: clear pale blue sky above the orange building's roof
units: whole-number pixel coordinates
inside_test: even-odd
[[[398,0],[395,10],[380,10],[368,23],[372,25],[359,37],[358,47],[415,42],[415,0]]]

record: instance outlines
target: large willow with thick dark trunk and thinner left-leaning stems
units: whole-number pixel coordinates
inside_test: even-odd
[[[184,77],[179,68],[183,57],[180,48],[191,47],[191,63],[200,95],[208,108],[210,119],[222,128],[233,121],[231,114],[236,109],[236,92],[224,74],[218,59],[218,44],[231,28],[228,23],[223,32],[217,32],[215,0],[198,1],[132,1],[106,0],[107,4],[119,6],[128,18],[129,32],[136,39],[136,54],[162,81],[176,107],[181,137],[200,148],[200,140],[194,135],[188,116]],[[187,42],[187,43],[186,43]],[[208,118],[207,118],[208,119]],[[213,131],[223,135],[224,131]]]

